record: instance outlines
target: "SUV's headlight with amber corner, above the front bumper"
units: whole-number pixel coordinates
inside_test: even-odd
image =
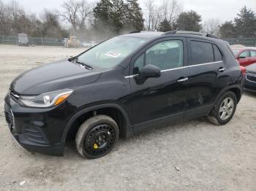
[[[35,96],[21,95],[19,103],[22,106],[45,108],[50,106],[58,106],[65,101],[73,90],[57,90],[49,93],[42,93]]]

